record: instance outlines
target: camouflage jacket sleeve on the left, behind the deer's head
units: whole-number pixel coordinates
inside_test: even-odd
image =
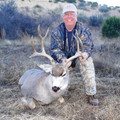
[[[60,26],[53,29],[51,33],[50,52],[54,60],[59,63],[62,62],[62,58],[66,58],[64,54],[64,39],[62,36],[63,31],[60,29]]]

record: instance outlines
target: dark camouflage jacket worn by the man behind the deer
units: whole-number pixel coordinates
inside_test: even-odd
[[[91,51],[93,49],[93,41],[91,33],[87,26],[81,22],[76,22],[75,28],[72,30],[72,34],[75,34],[75,30],[78,31],[78,36],[85,36],[85,39],[82,41],[84,46],[84,52],[87,52],[91,56]],[[51,44],[50,52],[51,56],[57,62],[62,62],[62,58],[69,58],[76,53],[77,42],[72,35],[70,49],[68,49],[68,38],[67,38],[67,29],[65,24],[61,23],[51,33]]]

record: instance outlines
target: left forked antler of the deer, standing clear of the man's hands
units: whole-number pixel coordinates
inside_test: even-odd
[[[47,32],[46,32],[45,36],[42,37],[41,33],[40,33],[40,25],[38,25],[38,35],[39,35],[40,41],[41,41],[41,50],[42,50],[42,52],[39,53],[39,52],[37,52],[35,50],[34,42],[33,42],[33,36],[32,36],[31,37],[31,44],[32,44],[33,54],[31,56],[29,56],[29,58],[36,57],[36,56],[44,56],[44,57],[46,57],[46,58],[48,58],[50,60],[50,62],[51,62],[52,65],[54,65],[55,64],[54,59],[50,55],[48,55],[45,52],[45,49],[44,49],[44,41],[45,41],[45,38],[47,37],[48,32],[49,32],[49,28],[47,29]]]

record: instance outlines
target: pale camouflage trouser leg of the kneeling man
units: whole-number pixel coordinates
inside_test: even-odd
[[[93,59],[91,57],[84,62],[80,62],[80,72],[85,84],[86,94],[96,94],[95,69]]]

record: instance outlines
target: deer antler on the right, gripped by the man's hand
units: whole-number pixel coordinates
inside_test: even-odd
[[[76,54],[74,56],[72,56],[69,59],[67,59],[65,65],[67,65],[70,61],[74,60],[75,58],[82,56],[81,53],[84,51],[82,40],[85,39],[85,38],[83,38],[83,37],[80,38],[78,36],[77,30],[76,30],[76,36],[74,35],[74,38],[77,41],[77,52],[76,52]],[[80,51],[79,43],[80,43],[80,46],[81,46],[81,51]]]

